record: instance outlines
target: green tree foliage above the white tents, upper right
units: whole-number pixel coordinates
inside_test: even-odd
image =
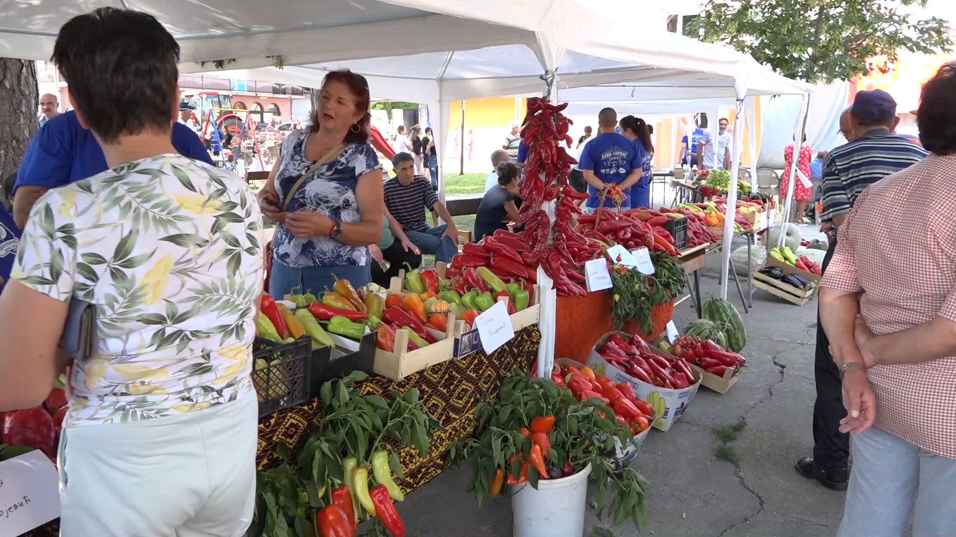
[[[892,69],[898,55],[953,50],[948,23],[919,18],[925,0],[707,0],[690,26],[711,43],[726,43],[781,75],[813,83]],[[886,56],[875,66],[874,56]]]

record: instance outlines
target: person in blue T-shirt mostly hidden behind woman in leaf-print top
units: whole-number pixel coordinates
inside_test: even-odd
[[[212,165],[202,140],[186,125],[173,122],[172,142],[181,155]],[[83,128],[75,111],[44,123],[20,163],[13,197],[13,220],[23,229],[30,209],[44,192],[93,177],[107,170],[106,158],[93,132]]]

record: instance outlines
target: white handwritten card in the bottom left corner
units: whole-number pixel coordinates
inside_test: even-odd
[[[16,537],[59,516],[59,476],[41,451],[0,462],[0,537]]]

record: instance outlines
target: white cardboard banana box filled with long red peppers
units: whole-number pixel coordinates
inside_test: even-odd
[[[630,338],[632,335],[623,332],[609,332],[602,335],[600,339],[597,340],[594,349],[591,350],[591,354],[588,355],[588,365],[591,366],[591,369],[593,369],[596,374],[603,370],[600,375],[607,376],[615,382],[630,383],[634,388],[634,394],[642,400],[647,401],[647,404],[651,405],[651,408],[654,409],[655,419],[652,425],[662,431],[667,431],[675,421],[681,418],[681,415],[684,414],[684,410],[690,405],[690,401],[697,395],[697,390],[701,387],[700,374],[695,371],[694,383],[691,384],[689,388],[684,388],[683,390],[668,390],[630,376],[604,360],[604,358],[597,353],[597,349],[607,341],[607,338],[610,337],[612,333],[619,333],[625,338]],[[666,355],[666,353],[654,347],[651,347],[651,352]]]

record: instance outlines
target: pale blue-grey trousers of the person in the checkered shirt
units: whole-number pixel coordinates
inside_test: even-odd
[[[876,427],[852,435],[853,472],[837,537],[956,535],[956,459],[923,451]]]

